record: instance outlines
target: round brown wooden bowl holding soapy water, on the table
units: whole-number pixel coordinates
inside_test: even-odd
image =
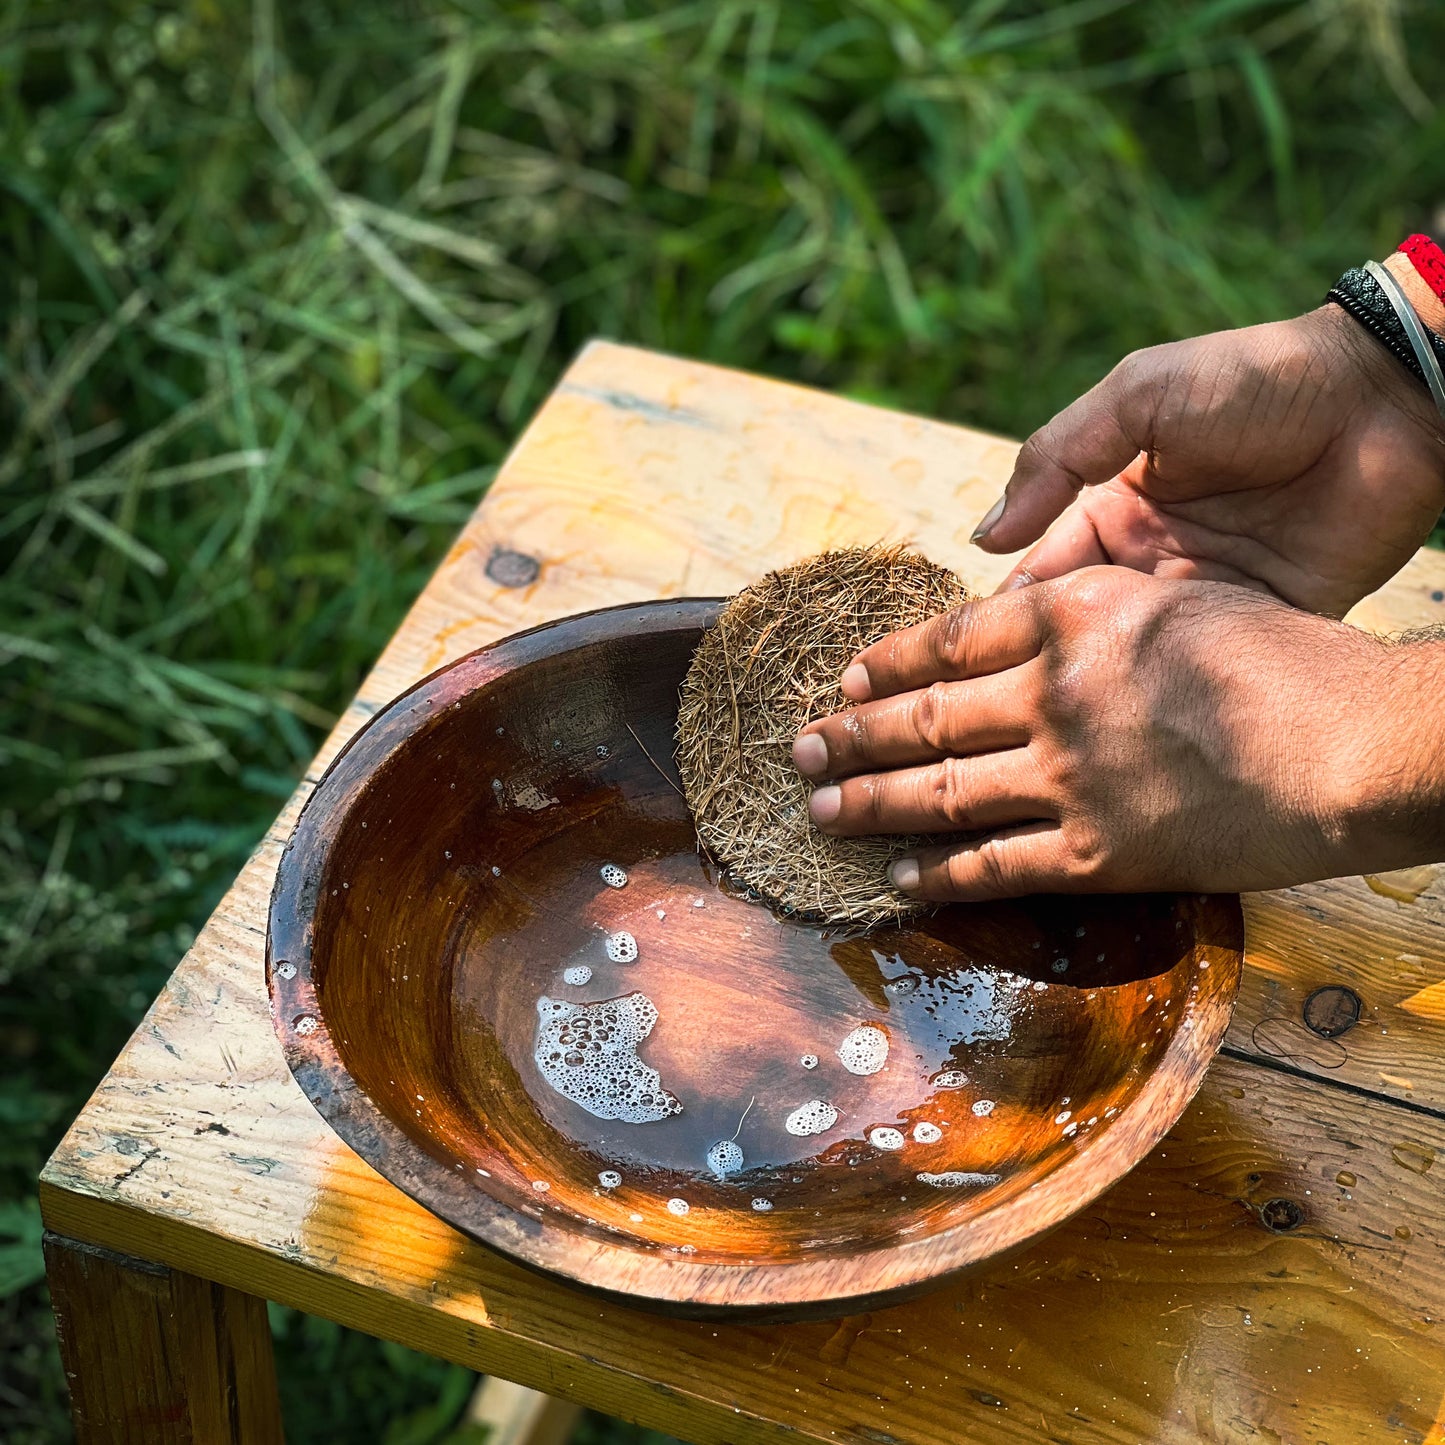
[[[1240,906],[779,922],[673,782],[718,605],[552,623],[379,712],[282,858],[272,1012],[332,1129],[512,1259],[678,1314],[845,1314],[1026,1244],[1153,1147],[1228,1023]]]

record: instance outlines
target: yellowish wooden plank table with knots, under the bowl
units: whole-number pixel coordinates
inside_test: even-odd
[[[279,1439],[263,1298],[698,1442],[1445,1442],[1432,868],[1248,899],[1227,1046],[1147,1162],[1022,1259],[837,1324],[678,1322],[523,1273],[373,1173],[286,1072],[272,876],[377,707],[545,618],[731,592],[831,545],[912,539],[987,587],[1006,564],[968,533],[1013,452],[582,353],[45,1169],[82,1442]],[[1416,556],[1357,620],[1445,620],[1445,558]]]

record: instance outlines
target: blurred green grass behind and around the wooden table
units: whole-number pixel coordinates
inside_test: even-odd
[[[0,13],[13,1445],[40,1162],[584,340],[1022,434],[1445,224],[1423,3]],[[460,1371],[276,1328],[298,1445],[458,1439]]]

